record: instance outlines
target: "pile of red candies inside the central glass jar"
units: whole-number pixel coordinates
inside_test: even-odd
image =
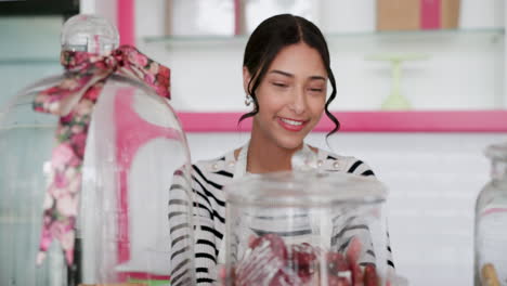
[[[324,253],[307,243],[287,247],[275,234],[256,237],[248,246],[249,252],[235,268],[235,286],[318,285],[320,275],[327,275],[327,286],[378,286],[379,283],[374,264],[367,264],[363,271],[349,253]],[[320,271],[321,255],[325,255],[325,272]],[[324,286],[323,283],[321,280],[320,285]]]

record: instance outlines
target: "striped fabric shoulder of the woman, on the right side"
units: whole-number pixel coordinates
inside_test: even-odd
[[[372,168],[354,156],[339,155],[322,148],[317,150],[317,166],[325,171],[348,172],[361,176],[375,176]]]

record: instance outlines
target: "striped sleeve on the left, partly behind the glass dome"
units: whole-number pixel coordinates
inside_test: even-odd
[[[212,178],[210,178],[212,177]],[[219,246],[223,238],[225,225],[225,202],[218,195],[221,192],[221,181],[230,180],[232,174],[222,171],[210,173],[200,165],[193,165],[191,171],[191,184],[193,191],[193,223],[194,223],[194,240],[193,247],[195,251],[193,264],[195,266],[195,281],[190,285],[214,285],[217,282],[217,260],[219,255]],[[187,285],[181,283],[181,277],[184,276],[184,271],[188,269],[183,262],[188,256],[185,256],[183,250],[186,245],[179,244],[180,237],[185,233],[178,231],[183,230],[184,222],[178,220],[178,216],[171,213],[178,212],[174,202],[182,202],[181,184],[182,177],[174,174],[173,185],[171,186],[171,202],[169,225],[171,229],[172,248],[171,248],[171,285]],[[187,214],[188,212],[186,212]],[[180,229],[181,227],[181,229]],[[173,235],[174,234],[174,235]]]

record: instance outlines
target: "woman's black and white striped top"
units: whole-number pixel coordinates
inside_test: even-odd
[[[234,151],[224,156],[198,161],[192,166],[192,188],[196,194],[194,205],[194,222],[198,229],[194,230],[195,240],[195,272],[196,283],[190,283],[185,272],[190,263],[187,260],[188,246],[184,242],[187,235],[188,225],[183,220],[183,203],[186,197],[182,185],[185,180],[181,172],[176,172],[173,185],[170,191],[169,202],[169,225],[172,237],[171,243],[171,285],[213,285],[217,281],[217,264],[219,257],[223,256],[222,245],[225,235],[225,194],[223,186],[231,183],[234,179],[237,160]],[[323,150],[317,152],[317,166],[322,171],[348,172],[361,176],[375,176],[370,168],[363,161],[348,156],[339,156]],[[244,167],[243,167],[244,168]],[[360,221],[355,218],[347,218],[347,227],[333,230],[333,237],[340,239],[337,243],[337,250],[347,248],[351,237],[367,237],[367,229],[362,227]],[[186,229],[186,230],[185,230]],[[336,232],[336,233],[335,233]],[[300,231],[301,234],[304,230]],[[391,248],[388,242],[387,264],[389,271],[393,272]],[[369,244],[368,244],[369,245]],[[375,256],[372,249],[364,249],[364,255],[360,256],[360,262],[368,262],[368,256]],[[362,257],[362,258],[361,258]]]

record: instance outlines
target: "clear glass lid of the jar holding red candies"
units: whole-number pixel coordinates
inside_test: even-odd
[[[225,186],[227,203],[264,207],[379,204],[387,188],[372,177],[349,173],[249,174]]]

